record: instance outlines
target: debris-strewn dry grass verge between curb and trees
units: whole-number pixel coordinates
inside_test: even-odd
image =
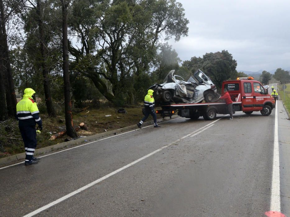
[[[124,113],[117,113],[116,110],[118,108],[109,107],[109,106],[102,106],[99,109],[95,108],[86,108],[84,111],[77,112],[79,110],[76,110],[73,112],[73,121],[74,125],[78,126],[81,122],[84,122],[87,127],[88,131],[80,130],[78,131],[79,136],[90,136],[95,135],[99,133],[103,133],[106,131],[112,131],[116,130],[122,127],[136,125],[140,121],[140,119],[143,117],[142,114],[142,106],[130,106],[130,107],[124,107],[127,111],[127,114]],[[106,117],[106,115],[111,115],[109,117]],[[37,148],[43,148],[49,145],[62,143],[65,141],[65,139],[71,139],[69,136],[64,135],[59,139],[55,140],[49,140],[51,135],[54,135],[55,133],[62,131],[65,128],[65,117],[57,116],[55,118],[47,117],[47,114],[40,114],[40,117],[43,121],[43,130],[41,131],[41,134],[37,135]],[[147,121],[152,120],[152,117],[149,116]],[[0,135],[0,144],[2,148],[0,147],[0,157],[6,157],[9,155],[21,153],[24,151],[24,145],[23,141],[20,140],[21,138],[19,129],[18,129],[18,123],[15,120],[9,120],[9,125],[12,127],[9,128],[9,132],[5,130],[5,126],[7,123],[2,124],[0,122],[0,130],[2,130],[4,133],[3,135]],[[7,129],[7,127],[6,127]],[[1,131],[1,132],[2,132]],[[5,137],[4,137],[5,136]],[[12,139],[18,138],[18,139]],[[13,145],[11,145],[11,142],[13,140]]]

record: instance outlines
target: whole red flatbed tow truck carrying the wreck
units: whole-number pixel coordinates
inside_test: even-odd
[[[253,79],[253,77],[242,77],[237,80],[224,81],[222,94],[223,89],[226,88],[233,101],[233,113],[242,111],[251,114],[254,111],[260,111],[262,115],[268,116],[275,108],[275,100],[259,81]],[[160,107],[162,109],[157,110],[156,113],[163,118],[171,118],[177,113],[181,117],[191,119],[203,116],[205,120],[213,120],[217,114],[228,114],[225,102],[168,104]]]

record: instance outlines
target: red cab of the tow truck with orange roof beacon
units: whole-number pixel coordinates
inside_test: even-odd
[[[269,115],[275,107],[274,98],[268,94],[259,81],[252,77],[237,78],[237,80],[224,81],[223,89],[228,90],[233,102],[241,101],[241,104],[233,104],[235,111],[243,111],[251,114],[253,111],[261,111],[265,116]]]

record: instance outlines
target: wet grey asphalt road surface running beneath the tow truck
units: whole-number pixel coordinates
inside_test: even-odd
[[[275,109],[233,117],[176,118],[2,169],[0,216],[24,216],[166,145],[35,216],[266,216]],[[290,121],[280,101],[278,117],[281,212],[290,216]]]

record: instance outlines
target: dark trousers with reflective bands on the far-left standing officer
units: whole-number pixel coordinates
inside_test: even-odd
[[[24,142],[25,161],[31,161],[37,144],[35,126],[19,126],[19,130]]]

